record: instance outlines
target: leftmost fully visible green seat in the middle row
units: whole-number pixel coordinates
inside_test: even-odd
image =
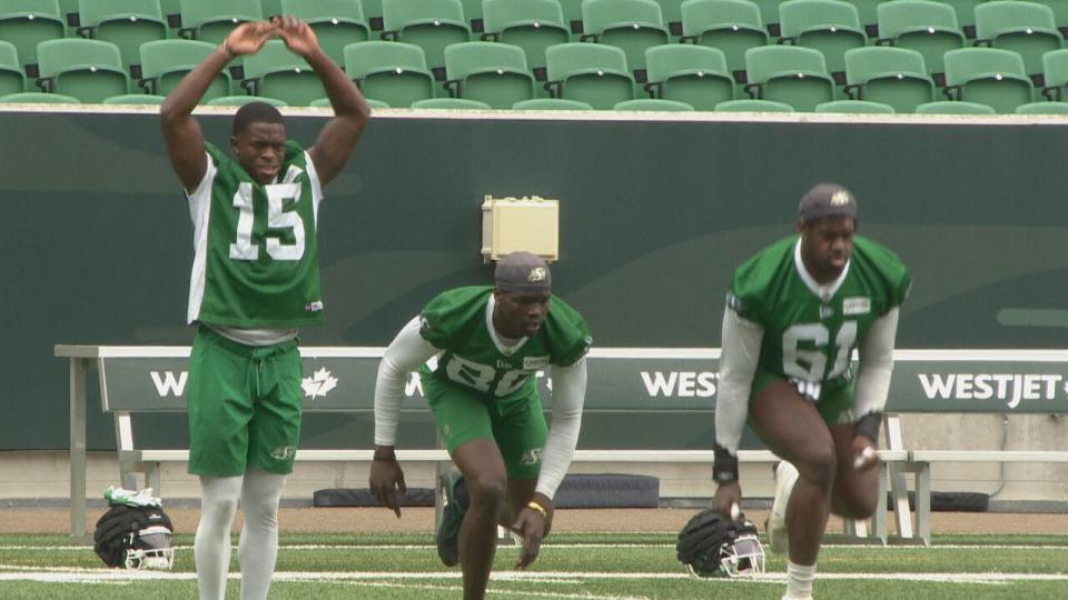
[[[101,102],[130,92],[130,77],[122,68],[119,47],[111,42],[46,40],[37,47],[37,87],[43,91],[73,96],[82,102]]]

